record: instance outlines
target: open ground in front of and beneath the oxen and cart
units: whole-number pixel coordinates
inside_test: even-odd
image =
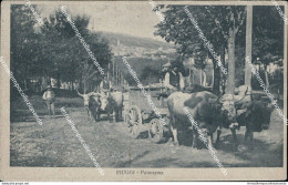
[[[40,96],[29,100],[40,115],[47,114]],[[179,133],[179,147],[167,140],[155,144],[147,138],[144,125],[143,133],[135,140],[124,122],[110,123],[105,116],[100,122],[90,120],[82,103],[80,97],[58,99],[56,112],[61,114],[60,107],[65,106],[102,167],[217,167],[207,148],[191,147],[189,133]],[[14,117],[10,127],[11,166],[93,167],[65,117],[45,117],[42,125],[21,122],[19,117],[29,114],[21,99],[11,103],[11,112]],[[232,150],[230,132],[224,130],[216,155],[224,167],[280,167],[284,157],[282,124],[274,111],[269,130],[255,133],[255,141],[248,145],[244,144],[245,129],[240,129],[237,134],[243,150],[239,152]]]

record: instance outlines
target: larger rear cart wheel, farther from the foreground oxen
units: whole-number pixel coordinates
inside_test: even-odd
[[[128,132],[134,138],[137,138],[142,125],[142,115],[140,109],[136,105],[132,105],[130,107],[127,112],[126,123]]]

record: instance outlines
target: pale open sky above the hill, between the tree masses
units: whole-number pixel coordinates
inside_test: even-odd
[[[114,1],[85,2],[82,4],[38,4],[42,17],[48,17],[61,6],[65,6],[72,16],[86,14],[91,18],[90,30],[124,33],[134,37],[150,38],[165,42],[161,37],[155,37],[154,27],[161,22],[158,16],[152,11],[148,1],[127,3]],[[94,22],[94,27],[93,27]]]

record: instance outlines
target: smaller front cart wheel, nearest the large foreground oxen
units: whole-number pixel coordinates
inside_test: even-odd
[[[148,130],[150,140],[153,143],[158,143],[163,138],[163,125],[160,123],[158,119],[152,119],[150,122]]]

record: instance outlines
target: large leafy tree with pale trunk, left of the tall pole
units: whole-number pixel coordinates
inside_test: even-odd
[[[199,48],[206,48],[194,28],[183,6],[167,6],[164,12],[166,24],[158,23],[155,34],[167,42],[174,42],[178,52],[193,56]],[[220,61],[225,63],[225,49],[228,49],[228,91],[234,92],[235,80],[235,41],[237,33],[243,31],[245,8],[240,6],[189,6],[187,7],[205,38],[212,43],[215,53],[219,53]],[[202,55],[208,55],[214,63],[214,83],[219,89],[219,68],[209,51],[200,50]],[[204,62],[204,61],[203,61]],[[216,91],[217,91],[216,90]]]

